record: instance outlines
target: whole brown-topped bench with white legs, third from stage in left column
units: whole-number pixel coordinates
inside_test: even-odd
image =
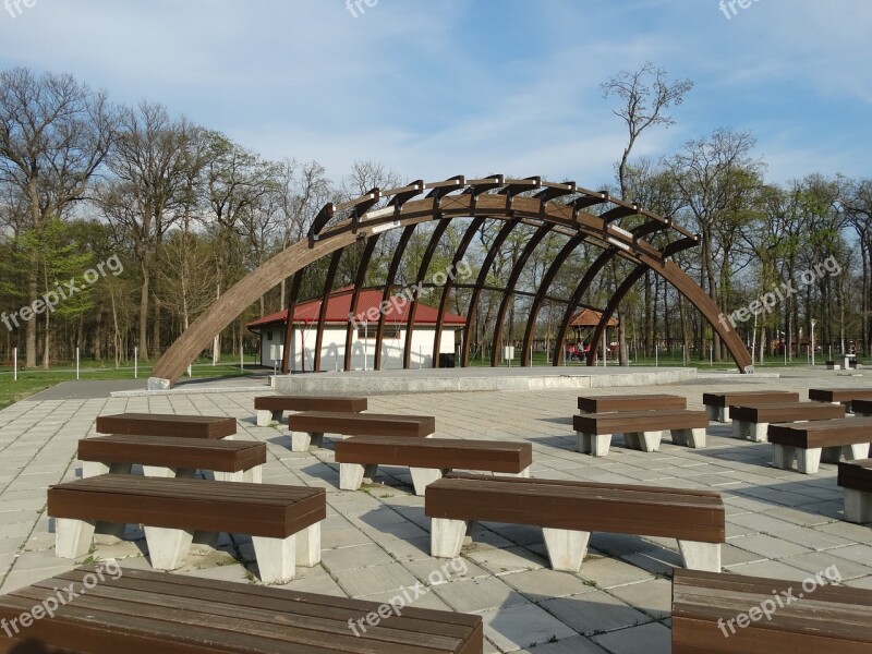
[[[47,512],[60,557],[86,555],[98,522],[143,524],[156,570],[183,566],[194,532],[247,534],[261,580],[287,583],[320,561],[327,501],[324,488],[105,474],[50,486]]]

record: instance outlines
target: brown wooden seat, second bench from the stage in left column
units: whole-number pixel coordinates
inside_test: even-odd
[[[78,459],[238,472],[266,463],[266,444],[121,434],[80,440]]]

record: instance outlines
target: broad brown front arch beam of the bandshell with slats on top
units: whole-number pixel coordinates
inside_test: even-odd
[[[458,193],[443,194],[439,197],[419,197],[421,187],[403,186],[396,191],[380,192],[380,198],[391,198],[387,206],[382,209],[375,208],[373,199],[377,190],[366,195],[342,203],[340,205],[325,205],[322,213],[313,225],[310,238],[291,245],[263,266],[252,271],[247,277],[228,290],[223,296],[204,312],[185,332],[164,353],[154,368],[154,377],[149,379],[149,388],[166,388],[173,384],[187,364],[205,349],[216,334],[220,332],[247,306],[254,303],[265,291],[278,286],[282,279],[295,275],[311,263],[323,256],[328,256],[353,243],[358,238],[372,238],[377,233],[395,229],[409,228],[420,222],[426,222],[440,218],[495,218],[511,223],[524,223],[540,226],[543,221],[550,222],[557,233],[574,235],[584,233],[588,239],[600,245],[608,247],[616,245],[620,247],[621,256],[634,261],[637,264],[645,264],[657,274],[662,275],[667,281],[673,283],[690,302],[697,306],[703,316],[713,325],[715,330],[722,336],[734,360],[742,372],[750,372],[753,365],[744,344],[735,332],[724,327],[718,320],[718,311],[714,302],[705,292],[693,282],[674,262],[664,256],[664,252],[653,247],[644,239],[633,238],[633,234],[615,231],[614,227],[607,226],[606,221],[583,209],[594,205],[610,205],[623,207],[628,213],[632,208],[633,213],[643,217],[661,220],[651,211],[637,209],[632,204],[609,197],[604,192],[592,192],[577,187],[576,193],[579,197],[567,205],[554,202],[545,202],[542,197],[529,197],[522,195],[525,191],[535,191],[538,187],[548,189],[547,182],[543,184],[541,178],[529,178],[526,180],[504,180],[506,186],[499,193],[465,193],[467,182],[462,178],[455,178],[448,182],[435,182],[423,184],[424,190],[451,189]],[[495,183],[494,180],[479,183]],[[409,194],[401,205],[396,201],[400,193]],[[354,207],[364,205],[372,207],[364,215],[344,218],[339,222],[332,220],[338,214],[354,215]],[[609,209],[607,208],[605,213]],[[680,226],[666,220],[668,230],[687,238],[693,234],[682,229]],[[622,232],[622,233],[621,233]],[[625,235],[626,234],[626,235]],[[606,244],[605,242],[608,244]],[[667,244],[668,249],[669,245]],[[481,289],[479,289],[481,293]],[[477,301],[476,301],[477,302]],[[570,304],[572,302],[570,301]],[[578,304],[576,302],[574,304]],[[469,325],[468,334],[469,334]],[[467,343],[469,348],[469,343]],[[469,350],[467,349],[467,355]],[[557,359],[557,356],[555,358]]]

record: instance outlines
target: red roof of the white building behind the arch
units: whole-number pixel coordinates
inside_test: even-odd
[[[352,287],[346,287],[343,289],[334,291],[330,294],[329,299],[327,300],[326,323],[348,324],[349,313],[351,313],[352,292]],[[383,292],[378,289],[367,289],[361,291],[360,296],[358,298],[358,311],[355,313],[355,319],[358,323],[362,325],[364,322],[366,322],[366,313],[370,310],[374,310],[374,314],[378,312],[378,307],[382,304],[382,294]],[[411,306],[408,298],[404,295],[393,295],[389,302],[391,302],[391,304],[385,312],[385,323],[405,323],[409,317],[409,307]],[[318,315],[320,314],[320,299],[301,302],[294,308],[293,322],[303,325],[308,323],[317,323]],[[417,303],[417,310],[415,311],[415,325],[435,325],[438,316],[439,311],[437,308],[427,306],[421,302]],[[246,326],[249,329],[256,330],[266,327],[267,325],[283,324],[287,320],[288,310],[284,308],[268,316],[264,316],[263,318],[252,320]],[[372,323],[377,320],[378,317],[376,317],[375,320],[371,319],[370,322]],[[445,313],[443,325],[463,326],[465,324],[467,318],[463,316],[459,316],[449,312]]]

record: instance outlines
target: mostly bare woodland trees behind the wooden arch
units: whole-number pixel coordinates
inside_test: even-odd
[[[784,342],[791,343],[791,358],[804,352],[813,318],[816,343],[869,351],[872,180],[811,173],[784,185],[768,183],[752,135],[727,129],[657,161],[631,161],[633,138],[616,167],[613,194],[701,235],[701,247],[676,258],[725,314],[796,282],[828,257],[838,262],[839,275],[826,272],[772,313],[737,324],[759,356],[780,352]],[[520,177],[530,172],[535,171]],[[155,360],[233,283],[304,237],[326,202],[408,181],[375,161],[356,161],[331,181],[317,161],[266,160],[160,105],[117,106],[70,75],[0,71],[0,310],[12,314],[33,305],[72,278],[83,287],[53,312],[19,318],[17,328],[0,327],[0,364],[13,347],[28,367],[66,362],[75,348],[99,362],[128,361],[134,348],[141,360]],[[632,219],[622,226],[631,228]],[[467,227],[457,220],[441,237],[427,281],[448,268]],[[467,256],[475,276],[499,228],[500,221],[488,221],[476,234]],[[415,231],[397,283],[416,278],[432,230]],[[502,243],[488,287],[505,284],[534,230],[518,228]],[[379,239],[367,284],[384,281],[397,231]],[[526,261],[507,312],[507,341],[520,344],[532,294],[566,241],[550,233]],[[559,300],[572,294],[600,252],[582,244],[560,270],[538,317],[537,349],[554,347],[566,311]],[[347,249],[336,288],[353,283],[361,255],[360,246]],[[122,274],[81,283],[86,270],[112,256],[123,263]],[[310,268],[303,299],[320,293],[326,265]],[[605,305],[629,269],[613,265],[582,302]],[[252,351],[256,341],[245,324],[282,308],[288,289],[282,283],[266,292],[216,339],[210,354],[238,353],[243,343]],[[429,289],[424,301],[435,302],[435,293]],[[465,315],[469,295],[461,284],[451,311]],[[504,344],[492,342],[500,299],[496,291],[482,298],[474,316],[476,356]],[[655,344],[705,359],[712,347],[716,361],[726,355],[711,327],[656,275],[637,284],[620,317],[625,358],[651,354]]]

